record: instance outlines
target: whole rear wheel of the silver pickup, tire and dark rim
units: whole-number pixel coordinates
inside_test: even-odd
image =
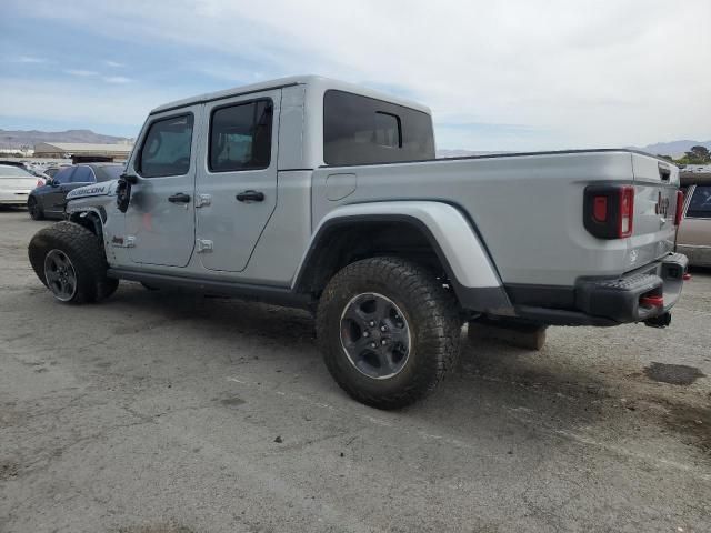
[[[329,372],[353,399],[379,409],[434,390],[459,355],[461,325],[451,291],[400,258],[349,264],[328,283],[317,311]]]

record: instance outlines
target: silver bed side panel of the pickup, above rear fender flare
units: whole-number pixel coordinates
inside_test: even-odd
[[[328,178],[338,173],[356,174],[356,188],[329,199]],[[640,265],[628,240],[595,239],[582,223],[587,185],[632,178],[631,154],[623,151],[321,168],[313,174],[313,225],[343,204],[441,201],[467,214],[504,284],[572,285],[580,276]]]

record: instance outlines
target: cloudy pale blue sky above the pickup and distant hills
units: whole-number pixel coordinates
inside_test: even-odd
[[[711,0],[3,0],[0,128],[321,74],[432,109],[439,149],[711,139]]]

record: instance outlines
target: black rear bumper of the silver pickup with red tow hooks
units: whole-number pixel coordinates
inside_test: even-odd
[[[520,318],[547,324],[618,325],[642,322],[669,312],[679,301],[688,262],[685,255],[670,253],[621,278],[580,280],[572,289],[572,309],[515,303],[514,306]],[[663,304],[641,303],[640,299],[644,296],[663,296]]]

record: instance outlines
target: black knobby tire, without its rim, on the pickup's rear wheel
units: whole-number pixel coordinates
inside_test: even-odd
[[[343,310],[362,293],[387,296],[409,324],[408,360],[392,378],[364,375],[341,342]],[[452,292],[425,266],[394,257],[364,259],[339,271],[321,294],[316,325],[333,379],[353,399],[378,409],[403,408],[432,392],[455,365],[461,345],[462,320]]]

